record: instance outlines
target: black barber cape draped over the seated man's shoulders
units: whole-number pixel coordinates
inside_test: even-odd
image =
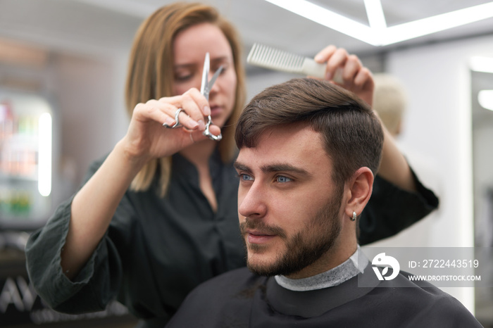
[[[482,327],[456,298],[432,284],[411,282],[406,272],[380,282],[368,270],[371,264],[364,275],[314,291],[290,291],[246,268],[227,272],[194,289],[166,328]],[[358,287],[358,277],[373,287]]]

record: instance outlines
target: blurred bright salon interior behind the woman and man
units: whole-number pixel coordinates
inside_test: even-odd
[[[29,284],[23,249],[89,163],[125,134],[132,39],[144,18],[170,2],[0,0],[0,327],[135,323],[118,303],[77,316],[45,308]],[[493,2],[204,2],[235,23],[244,61],[256,42],[309,57],[335,44],[375,75],[399,81],[406,99],[396,139],[440,208],[374,246],[492,247]],[[294,77],[246,70],[249,97]],[[493,327],[492,288],[444,290]]]

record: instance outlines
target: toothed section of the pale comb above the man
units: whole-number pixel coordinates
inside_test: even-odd
[[[254,44],[246,61],[263,68],[301,73],[305,58],[270,46]]]

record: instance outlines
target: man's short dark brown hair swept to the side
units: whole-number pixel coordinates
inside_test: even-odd
[[[347,182],[358,168],[376,174],[383,145],[380,121],[358,96],[327,81],[294,79],[254,96],[239,117],[237,146],[255,147],[270,127],[299,122],[320,133],[337,184]]]

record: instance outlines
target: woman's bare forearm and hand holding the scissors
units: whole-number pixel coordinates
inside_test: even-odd
[[[118,203],[142,165],[207,138],[202,132],[204,120],[211,113],[208,106],[207,99],[195,88],[180,96],[149,100],[135,106],[125,137],[73,198],[70,226],[61,252],[61,266],[69,279],[77,275],[96,249]],[[178,108],[185,111],[179,117],[183,127],[163,127],[163,123],[175,124]],[[220,129],[211,125],[211,132],[217,135]]]

